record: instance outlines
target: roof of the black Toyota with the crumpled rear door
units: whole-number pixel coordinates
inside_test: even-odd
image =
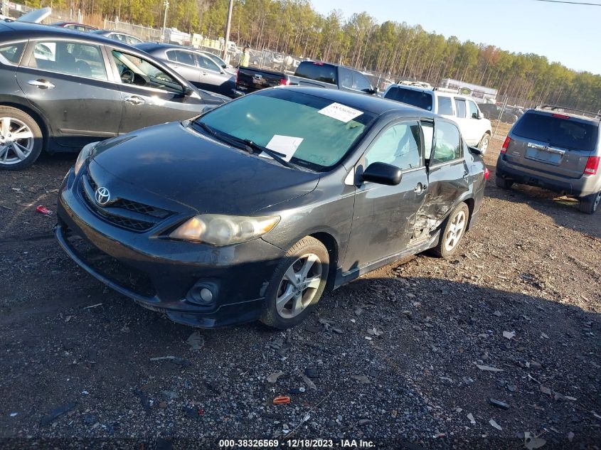
[[[428,112],[425,109],[416,108],[404,103],[387,100],[383,97],[374,95],[360,94],[358,92],[347,92],[336,89],[324,89],[323,87],[305,87],[305,86],[281,86],[273,89],[294,90],[304,94],[321,97],[332,102],[342,103],[351,108],[363,109],[363,111],[381,115],[386,112],[395,111],[408,117],[427,117],[434,118],[436,114]]]

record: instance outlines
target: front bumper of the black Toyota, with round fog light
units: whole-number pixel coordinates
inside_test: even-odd
[[[201,328],[229,326],[260,317],[264,293],[284,252],[262,239],[211,247],[161,237],[108,223],[87,205],[80,178],[71,170],[58,198],[55,235],[61,247],[86,272],[138,304],[171,320]],[[73,236],[81,240],[74,242]],[[78,243],[79,242],[79,243]],[[83,252],[83,242],[95,257]],[[110,259],[112,265],[96,264]],[[136,282],[132,284],[132,279]],[[202,287],[213,299],[193,296]]]

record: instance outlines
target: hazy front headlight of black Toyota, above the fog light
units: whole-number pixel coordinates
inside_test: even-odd
[[[272,230],[279,216],[201,214],[186,220],[169,237],[223,246],[256,239]]]

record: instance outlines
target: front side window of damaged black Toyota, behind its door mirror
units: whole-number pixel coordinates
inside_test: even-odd
[[[392,164],[401,170],[420,167],[421,134],[416,122],[394,124],[382,132],[365,156],[365,166],[372,163]]]

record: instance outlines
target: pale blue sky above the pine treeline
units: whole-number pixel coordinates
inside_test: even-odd
[[[537,53],[574,70],[601,74],[601,0],[311,0],[320,14],[340,9],[345,18],[366,11],[384,21],[420,25],[459,41]]]

